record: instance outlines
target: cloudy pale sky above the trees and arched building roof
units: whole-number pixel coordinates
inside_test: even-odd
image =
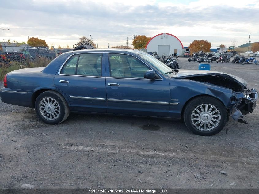
[[[1,3],[0,41],[27,42],[29,37],[50,46],[72,47],[86,36],[99,48],[132,44],[135,35],[177,36],[184,46],[208,40],[212,47],[259,41],[259,1],[232,0],[9,0]]]

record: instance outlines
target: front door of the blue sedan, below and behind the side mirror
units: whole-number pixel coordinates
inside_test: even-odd
[[[168,80],[159,76],[156,80],[145,79],[145,71],[151,68],[132,55],[109,53],[106,56],[108,113],[168,116]]]

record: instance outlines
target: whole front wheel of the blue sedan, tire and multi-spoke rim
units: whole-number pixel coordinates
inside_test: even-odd
[[[219,133],[227,123],[227,110],[217,99],[208,96],[196,97],[184,110],[184,121],[190,131],[197,135],[210,136]]]

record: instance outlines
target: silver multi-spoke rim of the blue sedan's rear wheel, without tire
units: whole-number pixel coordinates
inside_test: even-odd
[[[39,110],[47,120],[55,120],[60,115],[59,103],[51,97],[45,97],[40,101]]]

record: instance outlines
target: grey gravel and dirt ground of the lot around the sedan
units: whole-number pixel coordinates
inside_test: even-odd
[[[211,70],[259,90],[255,64],[214,61]],[[0,113],[0,188],[259,188],[258,107],[245,116],[249,124],[230,118],[211,137],[167,119],[70,114],[52,126],[33,108],[2,101]]]

